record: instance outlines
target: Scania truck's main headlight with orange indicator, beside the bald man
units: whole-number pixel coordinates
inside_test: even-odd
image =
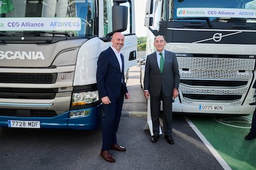
[[[86,105],[99,100],[98,91],[76,92],[72,95],[72,106]]]

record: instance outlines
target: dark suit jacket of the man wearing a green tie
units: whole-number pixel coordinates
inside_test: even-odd
[[[147,56],[145,65],[144,90],[150,95],[159,96],[163,88],[166,97],[173,95],[173,88],[179,88],[179,68],[173,52],[164,51],[164,68],[160,73],[156,52]]]

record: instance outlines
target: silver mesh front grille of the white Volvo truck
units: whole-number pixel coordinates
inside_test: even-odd
[[[241,105],[244,102],[254,76],[254,59],[189,55],[193,57],[177,57],[182,103],[207,101]]]

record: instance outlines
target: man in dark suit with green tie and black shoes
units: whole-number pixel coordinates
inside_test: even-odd
[[[163,102],[164,139],[174,144],[172,137],[172,103],[179,95],[179,68],[173,52],[164,50],[166,40],[164,36],[156,36],[154,46],[156,52],[147,56],[144,77],[144,95],[150,97],[150,111],[153,123],[151,142],[155,143],[160,133],[160,105]],[[162,59],[161,59],[162,58]]]

